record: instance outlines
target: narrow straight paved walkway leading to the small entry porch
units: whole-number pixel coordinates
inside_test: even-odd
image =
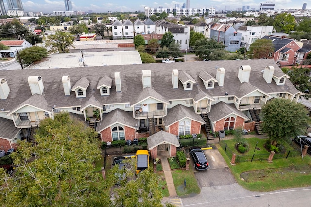
[[[161,158],[162,169],[165,175],[167,189],[169,190],[170,197],[177,197],[170,164],[167,160],[168,155],[169,155],[168,152],[161,152],[158,154],[159,158]]]

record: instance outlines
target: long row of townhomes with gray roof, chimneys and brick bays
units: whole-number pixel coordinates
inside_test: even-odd
[[[199,134],[204,125],[259,132],[267,101],[299,99],[289,78],[271,59],[1,71],[0,147],[62,111],[104,142]]]

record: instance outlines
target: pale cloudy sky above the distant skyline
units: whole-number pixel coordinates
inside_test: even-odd
[[[174,8],[176,4],[183,5],[187,0],[184,1],[166,1],[157,0],[157,2],[146,2],[141,0],[119,0],[118,2],[110,3],[102,0],[93,0],[91,3],[87,1],[75,0],[72,2],[72,7],[74,11],[89,11],[92,12],[135,12],[144,11],[144,7],[158,8],[162,6],[163,8]],[[261,0],[210,0],[208,2],[202,3],[200,0],[190,0],[190,8],[202,8],[202,7],[214,7],[218,10],[225,10],[225,6],[231,5],[230,9],[242,8],[243,6],[249,6],[250,8],[259,9],[260,3],[265,2]],[[290,1],[275,0],[275,9],[301,9],[303,3],[297,4]],[[8,5],[4,2],[5,8],[8,9]],[[64,0],[22,0],[24,11],[33,12],[44,12],[52,13],[53,11],[65,11]],[[234,4],[234,7],[232,6]],[[307,4],[308,9],[308,4]]]

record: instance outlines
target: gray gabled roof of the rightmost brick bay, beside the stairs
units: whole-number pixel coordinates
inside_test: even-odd
[[[235,108],[234,104],[231,106],[231,104],[225,104],[225,102],[218,102],[217,104],[214,104],[213,110],[208,113],[208,117],[210,121],[215,122],[232,113],[239,115],[245,120],[249,120],[249,118],[243,114],[243,112]]]

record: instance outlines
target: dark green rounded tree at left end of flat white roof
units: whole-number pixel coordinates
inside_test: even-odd
[[[46,48],[33,46],[20,51],[17,56],[20,57],[23,65],[30,65],[35,61],[39,61],[42,60],[42,58],[47,57],[48,51]],[[19,62],[19,58],[17,58],[17,62]]]

